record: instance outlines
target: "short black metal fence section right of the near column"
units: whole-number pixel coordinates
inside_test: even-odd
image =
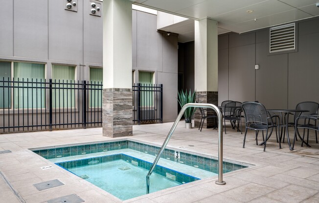
[[[163,122],[163,85],[135,83],[132,88],[133,122]]]

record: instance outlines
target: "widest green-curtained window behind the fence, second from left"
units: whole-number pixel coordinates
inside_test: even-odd
[[[32,87],[45,87],[46,66],[40,63],[14,62],[13,80],[17,82],[14,89],[14,108],[44,108],[46,106],[46,90]]]

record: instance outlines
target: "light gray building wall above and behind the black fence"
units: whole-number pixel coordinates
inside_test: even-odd
[[[94,1],[94,0],[91,0]],[[90,15],[90,0],[78,0],[77,12],[65,0],[0,0],[0,61],[76,66],[76,80],[89,80],[89,67],[102,67],[102,17]],[[102,3],[101,1],[94,1]],[[157,16],[133,10],[133,67],[155,73],[163,84],[163,120],[177,117],[177,36],[157,32]],[[125,59],[124,59],[125,60]]]

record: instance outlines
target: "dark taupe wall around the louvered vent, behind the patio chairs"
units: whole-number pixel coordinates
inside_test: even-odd
[[[266,108],[295,108],[298,102],[319,102],[319,18],[296,25],[297,51],[290,53],[269,54],[269,28],[218,37],[219,104],[258,100]]]

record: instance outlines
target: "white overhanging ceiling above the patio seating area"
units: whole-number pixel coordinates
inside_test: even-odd
[[[132,0],[135,4],[193,20],[218,21],[218,34],[244,33],[319,16],[319,0]],[[247,11],[252,11],[251,13]],[[194,40],[193,20],[166,27],[182,42]],[[181,41],[181,40],[179,40]]]

